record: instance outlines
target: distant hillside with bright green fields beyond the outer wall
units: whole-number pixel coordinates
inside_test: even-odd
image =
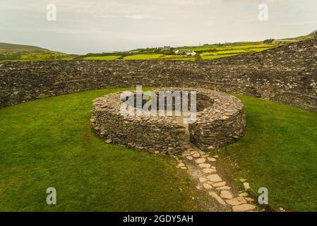
[[[261,52],[290,42],[307,40],[309,35],[285,39],[270,39],[261,42],[230,42],[218,44],[203,44],[201,46],[157,47],[133,49],[124,52],[89,53],[85,55],[64,54],[49,49],[23,44],[8,44],[0,42],[0,61],[47,61],[47,60],[138,60],[138,59],[169,59],[169,60],[207,60],[230,57],[237,54]],[[179,51],[179,53],[177,53]]]

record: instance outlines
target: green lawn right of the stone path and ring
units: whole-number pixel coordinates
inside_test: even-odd
[[[317,211],[317,114],[276,102],[238,96],[246,110],[246,136],[222,148],[238,163],[237,179],[269,203],[293,211]]]

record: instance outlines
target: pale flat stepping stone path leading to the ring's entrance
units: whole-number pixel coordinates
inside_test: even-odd
[[[179,160],[178,168],[193,169],[198,172],[199,176],[193,174],[198,180],[196,186],[199,190],[206,190],[211,198],[219,203],[220,206],[234,212],[257,211],[259,208],[252,204],[253,198],[249,197],[244,191],[239,191],[239,194],[234,194],[232,188],[227,186],[227,182],[223,181],[220,174],[217,173],[215,163],[218,155],[211,157],[209,154],[201,150],[193,150],[188,148],[183,153],[184,162]],[[249,189],[249,183],[244,182],[244,189]]]

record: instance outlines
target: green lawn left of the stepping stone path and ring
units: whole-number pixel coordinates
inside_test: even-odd
[[[196,188],[171,157],[106,145],[91,131],[92,100],[117,90],[0,109],[0,211],[197,210]],[[50,186],[56,206],[46,203]]]

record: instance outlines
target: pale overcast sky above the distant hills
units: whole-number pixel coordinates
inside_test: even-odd
[[[47,4],[56,5],[48,21]],[[258,5],[268,5],[268,21]],[[85,54],[295,37],[317,29],[317,0],[0,0],[0,42]]]

